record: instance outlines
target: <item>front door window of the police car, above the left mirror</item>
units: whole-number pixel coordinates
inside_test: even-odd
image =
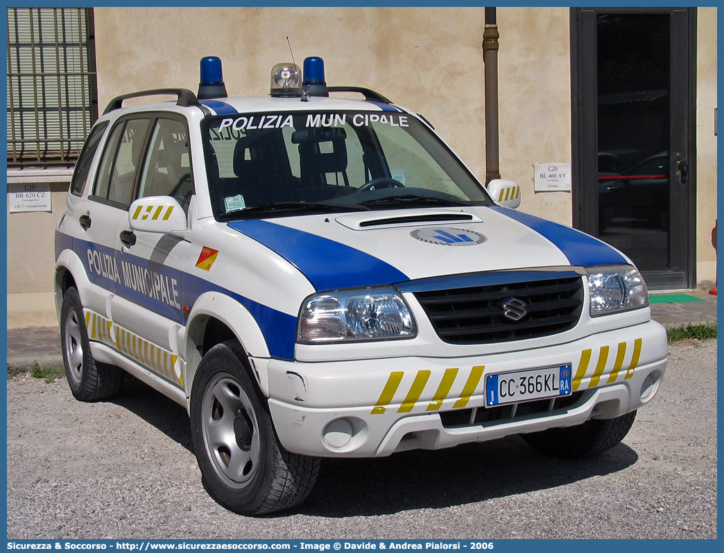
[[[151,134],[138,197],[172,196],[188,213],[191,195],[193,180],[186,126],[175,119],[158,119]]]

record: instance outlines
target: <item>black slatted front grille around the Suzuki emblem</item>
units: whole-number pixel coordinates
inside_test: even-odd
[[[450,344],[489,344],[550,336],[576,326],[583,305],[581,277],[486,284],[415,292],[435,332]],[[510,316],[504,315],[511,300]],[[517,310],[515,307],[517,306]]]

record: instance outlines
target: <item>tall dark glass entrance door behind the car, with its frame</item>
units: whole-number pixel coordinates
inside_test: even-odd
[[[572,15],[574,224],[649,288],[692,287],[695,9]]]

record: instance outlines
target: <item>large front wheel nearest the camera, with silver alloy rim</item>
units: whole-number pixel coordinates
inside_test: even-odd
[[[295,455],[279,444],[266,397],[236,340],[203,356],[193,380],[190,420],[203,487],[222,507],[263,515],[294,507],[311,492],[319,458]]]

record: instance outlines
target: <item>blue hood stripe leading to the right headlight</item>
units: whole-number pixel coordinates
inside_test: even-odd
[[[499,206],[489,206],[489,209],[526,225],[529,229],[534,230],[542,237],[550,240],[556,248],[563,252],[563,255],[568,258],[571,265],[585,267],[607,265],[610,263],[628,263],[626,258],[610,245],[586,235],[579,230],[571,229],[570,227],[565,227],[563,224],[547,221],[546,219],[540,219],[539,217],[523,213],[522,211],[513,211],[512,209]]]

